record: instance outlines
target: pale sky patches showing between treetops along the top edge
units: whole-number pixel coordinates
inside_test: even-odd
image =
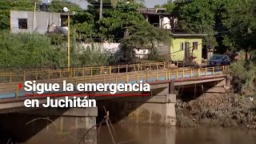
[[[42,2],[48,2],[48,1],[51,1],[51,0],[42,0]],[[84,9],[88,5],[88,3],[85,0],[68,0],[68,1],[74,2]],[[167,0],[144,0],[144,1],[147,8],[153,8],[156,5],[162,5],[167,2]]]

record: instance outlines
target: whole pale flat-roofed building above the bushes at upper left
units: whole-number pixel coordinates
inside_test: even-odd
[[[51,26],[55,26],[65,34],[66,20],[66,13],[10,10],[10,32],[12,34],[32,32],[46,34]]]

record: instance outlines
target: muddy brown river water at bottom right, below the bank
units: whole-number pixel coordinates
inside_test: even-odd
[[[117,143],[126,144],[255,144],[256,130],[222,128],[168,128],[114,125]],[[113,134],[114,135],[114,134]],[[106,126],[100,130],[100,144],[112,144]]]

